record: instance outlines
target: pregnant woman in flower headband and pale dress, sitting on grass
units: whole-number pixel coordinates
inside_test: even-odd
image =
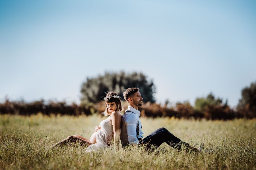
[[[78,141],[82,144],[88,146],[86,151],[92,151],[97,148],[105,148],[111,145],[111,141],[114,138],[114,145],[119,143],[119,137],[121,134],[121,111],[123,111],[123,106],[121,104],[121,97],[115,92],[108,92],[105,100],[105,111],[102,113],[104,116],[109,116],[102,122],[100,122],[99,127],[95,127],[94,133],[91,135],[90,139],[82,137],[80,135],[68,136],[67,138],[59,141],[58,143],[52,145],[65,144],[68,142]]]

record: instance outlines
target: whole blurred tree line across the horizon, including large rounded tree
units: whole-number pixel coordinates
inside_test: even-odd
[[[170,105],[169,101],[163,104],[155,103],[154,93],[156,88],[152,80],[148,80],[143,73],[105,73],[95,78],[87,78],[81,86],[81,104],[73,103],[68,105],[64,102],[34,101],[26,103],[24,101],[10,101],[0,103],[0,114],[21,114],[30,115],[41,112],[42,114],[99,114],[104,111],[104,101],[106,91],[115,91],[122,96],[123,89],[129,87],[139,87],[143,94],[144,105],[139,107],[141,116],[168,116],[177,118],[206,118],[224,119],[234,118],[255,118],[256,117],[256,81],[241,91],[241,99],[236,108],[232,109],[228,101],[223,102],[221,98],[216,98],[212,93],[206,97],[195,100],[195,105],[191,106],[188,101],[178,102]],[[122,101],[125,108],[127,102]]]

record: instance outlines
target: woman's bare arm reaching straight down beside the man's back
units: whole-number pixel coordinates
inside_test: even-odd
[[[120,130],[121,114],[119,114],[119,112],[112,112],[111,120],[113,125],[113,132],[114,132],[114,145],[117,146],[119,144],[119,138],[121,134],[121,130]]]

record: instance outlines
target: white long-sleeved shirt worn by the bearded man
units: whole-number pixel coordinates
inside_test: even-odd
[[[139,121],[139,136],[138,138],[143,138],[143,131],[141,130],[141,121],[140,121],[140,114],[141,112],[134,109],[130,105],[128,106],[128,109],[132,112],[127,112],[122,115],[122,128],[121,128],[121,143],[122,145],[126,145],[129,143],[130,145],[136,145],[139,144],[139,140],[137,139],[137,126]],[[127,111],[126,110],[126,111]]]

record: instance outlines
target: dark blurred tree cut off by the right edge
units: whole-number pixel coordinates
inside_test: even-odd
[[[237,110],[245,117],[256,117],[256,81],[243,88]],[[249,114],[249,115],[248,115]]]

